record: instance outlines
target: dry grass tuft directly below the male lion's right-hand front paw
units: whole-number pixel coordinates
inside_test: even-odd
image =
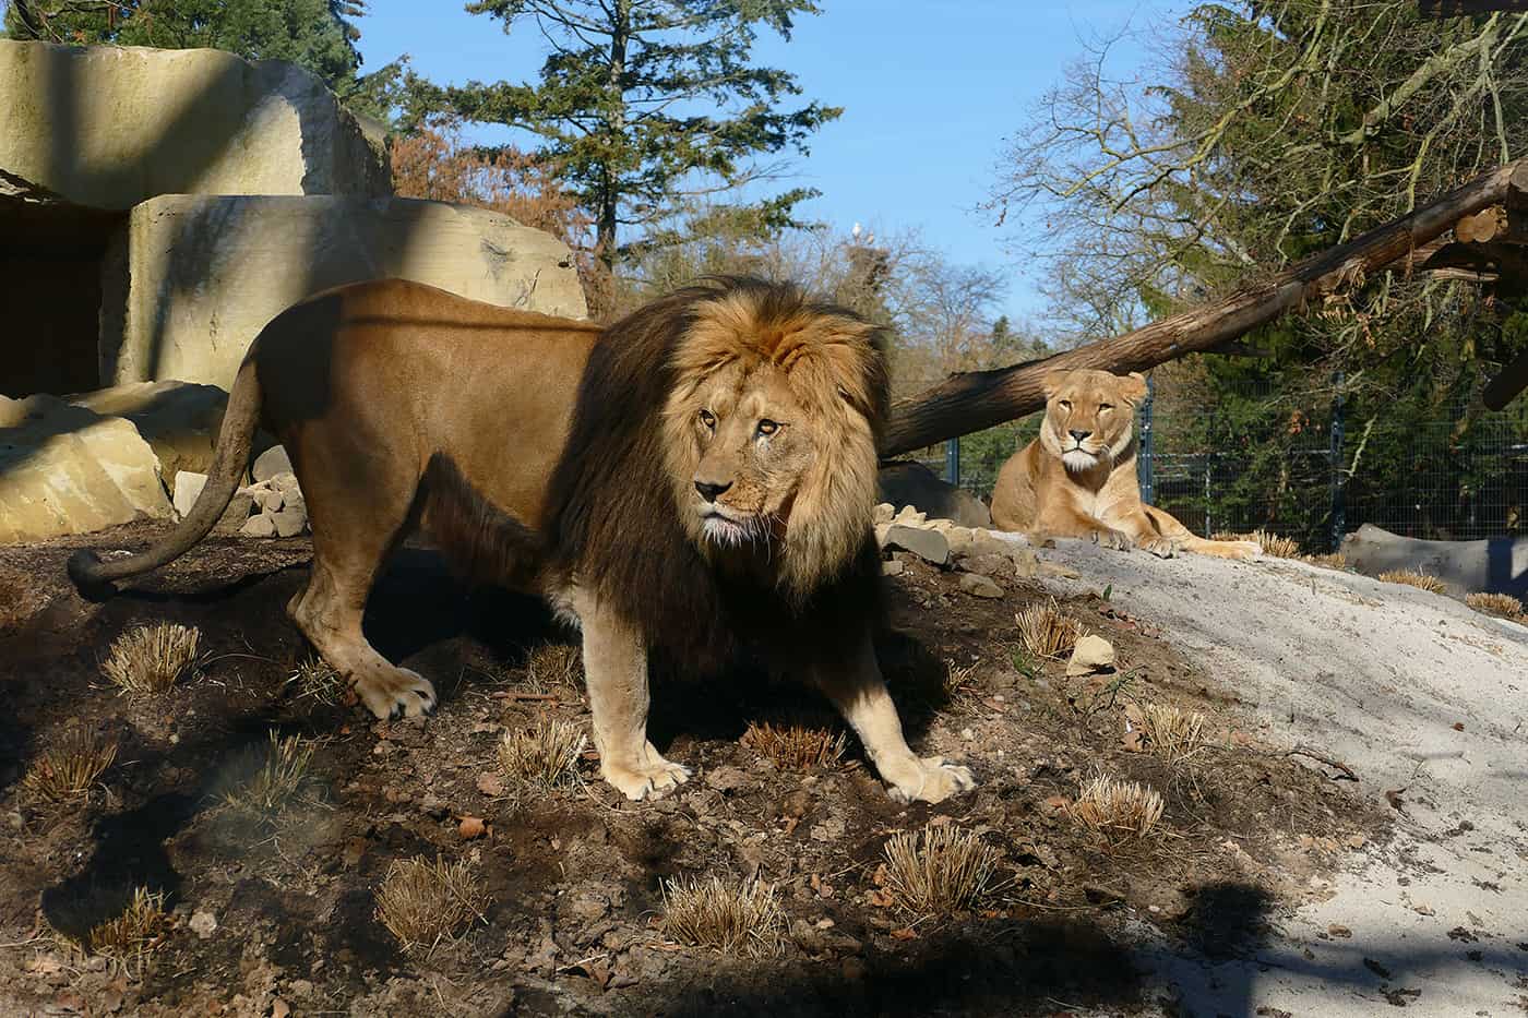
[[[902,832],[886,842],[886,891],[918,916],[963,911],[992,888],[996,865],[998,851],[964,827]]]

